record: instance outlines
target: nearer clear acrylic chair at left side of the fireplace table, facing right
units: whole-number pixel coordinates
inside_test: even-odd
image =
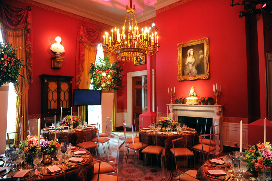
[[[133,163],[135,162],[135,153],[138,155],[138,160],[139,160],[139,150],[147,147],[147,144],[144,144],[142,142],[135,142],[134,139],[137,139],[137,138],[134,138],[134,134],[133,134],[133,125],[130,125],[130,124],[126,124],[126,123],[123,123],[123,127],[124,127],[124,134],[125,134],[125,141],[126,141],[126,145],[125,147],[128,148],[127,149],[127,156],[126,156],[126,162],[128,162],[128,153],[129,153],[129,150],[133,150],[134,153],[133,153]],[[131,138],[128,138],[128,134],[127,134],[127,131],[126,130],[132,130],[132,134],[131,134]],[[129,143],[128,140],[132,140],[132,143]]]

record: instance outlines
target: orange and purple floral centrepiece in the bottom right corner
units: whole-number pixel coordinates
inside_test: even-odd
[[[270,172],[272,167],[272,148],[270,142],[254,144],[245,151],[244,159],[248,168],[255,171],[266,169]]]

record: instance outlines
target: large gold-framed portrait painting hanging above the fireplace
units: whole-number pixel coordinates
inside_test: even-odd
[[[203,37],[200,40],[190,40],[187,43],[178,43],[177,49],[178,81],[209,78],[208,37]]]

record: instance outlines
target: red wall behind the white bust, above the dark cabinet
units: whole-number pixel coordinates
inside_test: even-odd
[[[88,27],[92,29],[102,29],[102,32],[104,32],[106,28],[16,0],[3,0],[3,2],[14,7],[31,6],[32,9],[33,84],[30,84],[28,91],[28,114],[40,114],[41,80],[39,75],[76,76],[76,36],[79,23],[85,22]],[[65,52],[61,54],[65,59],[59,70],[51,69],[51,57],[53,57],[54,54],[51,52],[50,46],[55,43],[55,37],[57,36],[61,37],[61,44],[65,49]],[[74,88],[75,78],[73,78],[73,89]],[[77,110],[77,108],[74,107],[73,110]]]

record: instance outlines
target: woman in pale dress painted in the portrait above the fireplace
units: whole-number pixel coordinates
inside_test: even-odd
[[[185,62],[184,76],[197,75],[197,63],[194,58],[195,52],[192,48],[187,51],[187,59]]]

